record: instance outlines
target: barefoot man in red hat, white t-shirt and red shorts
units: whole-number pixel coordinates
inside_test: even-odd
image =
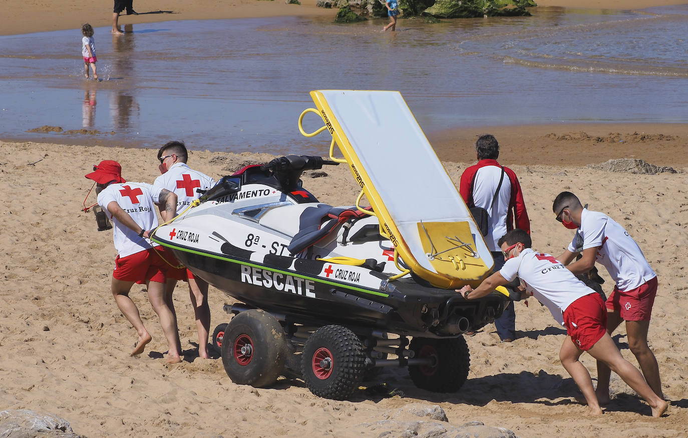
[[[177,195],[146,183],[127,183],[117,161],[100,161],[93,169],[86,178],[96,181],[98,205],[109,213],[113,222],[117,258],[112,273],[112,295],[138,333],[138,342],[131,356],[141,354],[151,341],[151,334],[144,327],[136,304],[129,298],[129,290],[134,283],[145,283],[151,306],[160,317],[162,332],[167,338],[167,362],[180,362],[181,345],[177,319],[171,307],[172,297],[167,297],[164,292],[165,272],[169,266],[146,240],[151,230],[158,227],[155,204],[161,205],[163,220],[171,219],[177,207]]]

